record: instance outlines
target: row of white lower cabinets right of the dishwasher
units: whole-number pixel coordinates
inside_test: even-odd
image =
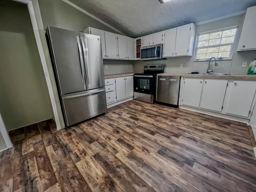
[[[181,105],[250,119],[255,92],[256,81],[185,78]]]

